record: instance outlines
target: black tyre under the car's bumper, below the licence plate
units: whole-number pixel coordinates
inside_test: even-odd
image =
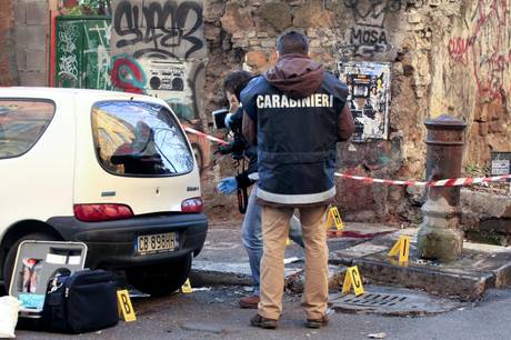
[[[191,270],[191,253],[172,262],[126,270],[128,281],[141,292],[158,297],[169,294],[187,281]]]

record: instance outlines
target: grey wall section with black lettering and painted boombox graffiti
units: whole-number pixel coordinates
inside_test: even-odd
[[[203,129],[204,62],[202,1],[113,0],[113,88],[166,100],[186,124]],[[201,167],[207,140],[189,136]]]

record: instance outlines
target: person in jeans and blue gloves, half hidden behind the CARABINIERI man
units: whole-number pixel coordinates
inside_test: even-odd
[[[252,77],[253,76],[250,72],[239,70],[231,72],[224,80],[223,89],[230,104],[229,112],[232,112],[226,116],[226,126],[229,129],[231,129],[234,124],[241,127],[243,110],[240,107],[240,92]],[[238,188],[248,188],[253,184],[241,227],[241,238],[249,256],[250,271],[252,273],[253,292],[250,296],[242,297],[239,304],[242,308],[255,309],[258,308],[258,303],[260,301],[260,263],[263,254],[261,207],[255,204],[258,191],[258,154],[257,147],[250,146],[244,139],[243,147],[244,156],[249,159],[248,169],[237,177],[222,179],[217,188],[220,192],[230,194],[236,192]],[[291,218],[289,238],[303,247],[300,221],[294,216]]]

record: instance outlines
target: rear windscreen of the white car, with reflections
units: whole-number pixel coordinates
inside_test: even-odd
[[[174,176],[193,169],[179,122],[161,106],[101,101],[92,107],[92,134],[101,166],[121,176]]]

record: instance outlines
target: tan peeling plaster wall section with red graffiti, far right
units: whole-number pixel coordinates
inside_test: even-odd
[[[468,1],[444,36],[442,53],[433,56],[442,66],[433,97],[443,98],[433,104],[460,111],[467,120],[465,162],[470,164],[484,166],[491,152],[511,151],[510,16],[509,0]]]

